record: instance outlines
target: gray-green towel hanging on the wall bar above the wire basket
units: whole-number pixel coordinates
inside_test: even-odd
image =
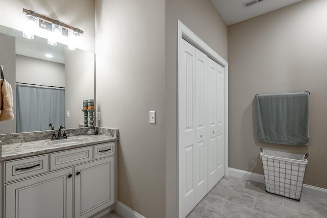
[[[310,144],[308,92],[256,95],[255,115],[259,141]]]

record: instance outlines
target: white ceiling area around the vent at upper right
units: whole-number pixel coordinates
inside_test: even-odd
[[[302,0],[263,0],[259,3],[244,8],[243,4],[251,0],[211,0],[226,25],[250,19],[270,11],[283,8]]]

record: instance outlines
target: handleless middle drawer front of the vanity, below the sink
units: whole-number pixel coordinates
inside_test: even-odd
[[[92,146],[50,154],[51,170],[92,160]]]

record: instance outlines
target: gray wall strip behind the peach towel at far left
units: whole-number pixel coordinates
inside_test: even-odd
[[[5,80],[10,83],[13,94],[13,120],[0,122],[0,134],[16,132],[16,51],[15,37],[0,33],[0,65],[4,66]]]

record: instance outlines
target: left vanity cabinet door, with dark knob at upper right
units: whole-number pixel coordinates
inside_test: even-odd
[[[72,218],[73,168],[5,185],[6,218]]]

